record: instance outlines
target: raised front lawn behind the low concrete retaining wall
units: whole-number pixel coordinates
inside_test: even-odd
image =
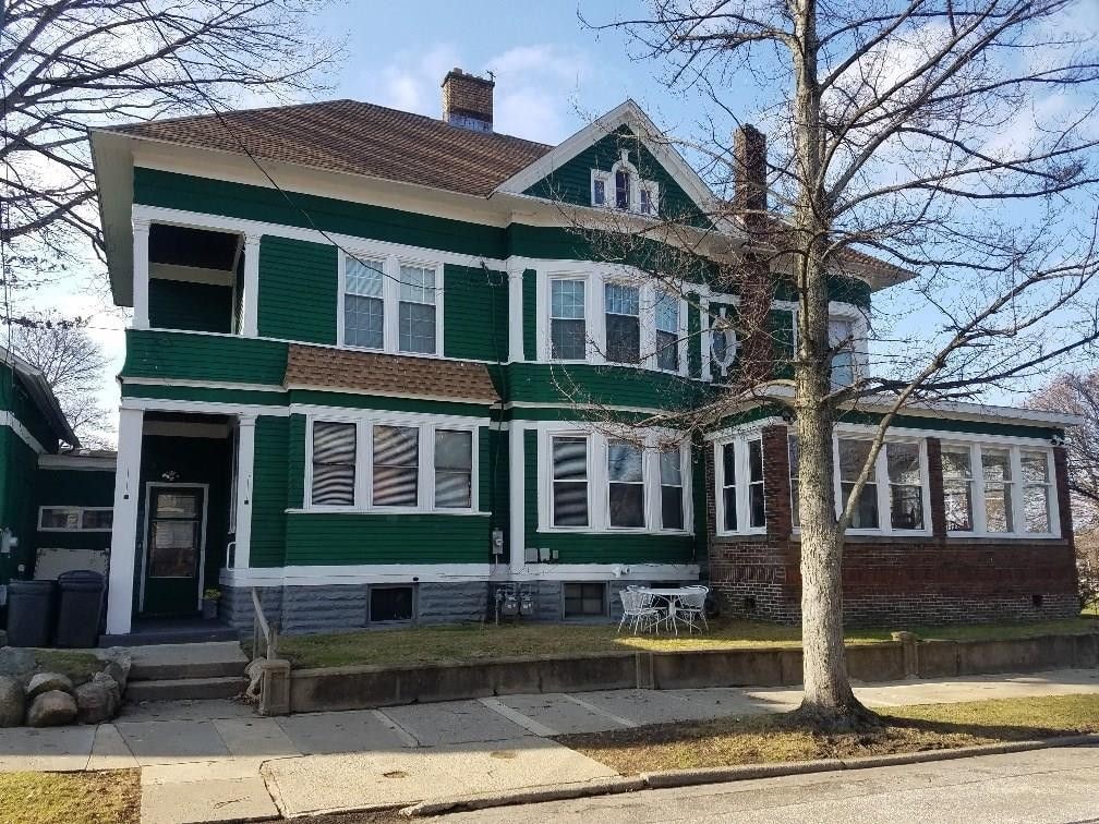
[[[898,627],[901,628],[901,627]],[[925,638],[957,641],[1019,638],[1099,630],[1099,622],[1080,617],[1039,623],[975,626],[903,627]],[[890,630],[852,630],[850,644],[888,641]],[[715,621],[706,635],[619,635],[611,624],[462,624],[414,630],[375,630],[331,635],[279,638],[278,652],[295,668],[342,667],[356,664],[424,664],[476,661],[517,656],[606,652],[676,652],[758,646],[798,647],[798,626],[752,621]]]

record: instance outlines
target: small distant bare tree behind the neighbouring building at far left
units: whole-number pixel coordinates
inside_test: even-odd
[[[86,323],[53,312],[21,320],[12,330],[12,348],[42,372],[80,443],[108,446],[113,415],[99,397],[108,359]]]

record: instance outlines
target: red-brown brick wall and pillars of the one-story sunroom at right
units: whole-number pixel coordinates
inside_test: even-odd
[[[707,449],[710,580],[725,614],[800,620],[800,547],[790,528],[786,428],[763,430],[767,534],[717,533],[713,450]],[[1067,617],[1079,612],[1064,449],[1054,449],[1063,539],[947,538],[942,457],[928,438],[932,534],[852,536],[844,550],[848,625],[914,626],[1006,619]]]

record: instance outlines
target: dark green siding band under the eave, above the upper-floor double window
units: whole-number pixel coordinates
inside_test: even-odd
[[[506,257],[504,233],[498,226],[432,218],[300,192],[287,192],[287,196],[290,202],[287,202],[287,197],[282,193],[267,187],[142,167],[134,169],[135,203],[299,229],[313,229],[315,225],[326,232],[356,237],[498,259]]]

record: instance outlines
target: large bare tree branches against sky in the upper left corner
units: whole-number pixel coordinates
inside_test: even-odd
[[[102,255],[87,127],[309,93],[338,53],[325,0],[0,2],[0,242]]]

